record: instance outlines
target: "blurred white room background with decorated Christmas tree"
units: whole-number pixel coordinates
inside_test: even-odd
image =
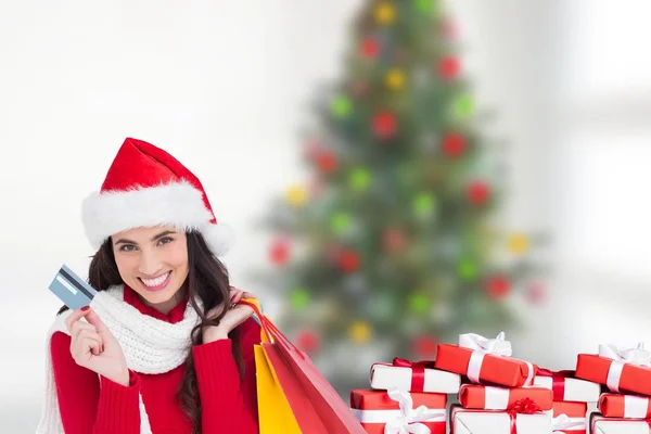
[[[458,333],[651,336],[651,4],[0,3],[0,423],[34,432],[80,202],[125,137],[203,181],[232,283],[345,394]]]

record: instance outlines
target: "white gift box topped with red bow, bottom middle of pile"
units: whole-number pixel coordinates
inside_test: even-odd
[[[522,412],[518,412],[522,411]],[[512,411],[470,410],[459,405],[450,409],[451,434],[549,434],[549,413],[523,408]]]

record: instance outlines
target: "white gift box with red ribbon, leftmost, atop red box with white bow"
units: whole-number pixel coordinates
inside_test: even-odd
[[[408,392],[459,393],[459,387],[461,386],[461,376],[459,374],[425,368],[423,390],[412,391],[412,368],[396,367],[388,363],[373,363],[371,366],[371,387],[382,391],[397,387]]]

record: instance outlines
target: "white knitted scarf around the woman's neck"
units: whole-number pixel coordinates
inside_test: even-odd
[[[183,319],[175,324],[142,315],[124,301],[124,288],[100,291],[90,306],[119,342],[127,367],[136,372],[157,374],[170,371],[186,361],[192,346],[190,333],[200,318],[188,303]],[[197,301],[199,303],[200,301]],[[199,303],[201,306],[201,303]],[[58,315],[48,331],[46,352],[46,391],[40,422],[36,434],[65,434],[56,398],[50,341],[56,331],[69,335],[65,319],[72,310]],[[151,434],[149,418],[140,397],[140,432]]]

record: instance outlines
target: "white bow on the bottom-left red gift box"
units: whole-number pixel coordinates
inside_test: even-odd
[[[400,416],[384,425],[384,434],[431,434],[432,431],[420,422],[445,417],[445,410],[431,410],[425,406],[414,410],[413,399],[407,391],[393,388],[386,393],[400,406]]]

